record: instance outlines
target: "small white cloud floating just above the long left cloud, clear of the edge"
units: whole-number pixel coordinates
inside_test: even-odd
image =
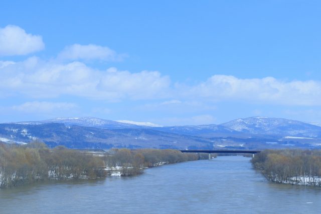
[[[79,45],[67,46],[60,54],[60,60],[101,60],[101,61],[120,61],[124,55],[119,55],[108,47],[98,45]]]

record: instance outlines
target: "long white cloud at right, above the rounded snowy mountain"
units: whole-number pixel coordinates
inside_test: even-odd
[[[212,101],[242,100],[275,105],[321,105],[321,82],[280,81],[273,77],[239,79],[234,76],[214,75],[207,81],[186,89],[184,96]]]

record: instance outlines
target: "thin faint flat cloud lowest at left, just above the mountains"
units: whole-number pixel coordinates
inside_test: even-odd
[[[26,112],[26,113],[52,113],[59,111],[66,111],[76,108],[77,105],[74,103],[65,102],[26,102],[21,105],[11,107],[14,111]]]

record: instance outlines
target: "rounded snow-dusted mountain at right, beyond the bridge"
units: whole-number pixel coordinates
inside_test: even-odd
[[[269,117],[249,117],[221,124],[235,131],[277,136],[316,137],[321,136],[321,127],[308,123]]]

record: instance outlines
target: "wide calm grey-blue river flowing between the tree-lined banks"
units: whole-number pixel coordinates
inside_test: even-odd
[[[275,184],[242,156],[146,169],[134,177],[1,189],[0,213],[320,213],[321,188]]]

